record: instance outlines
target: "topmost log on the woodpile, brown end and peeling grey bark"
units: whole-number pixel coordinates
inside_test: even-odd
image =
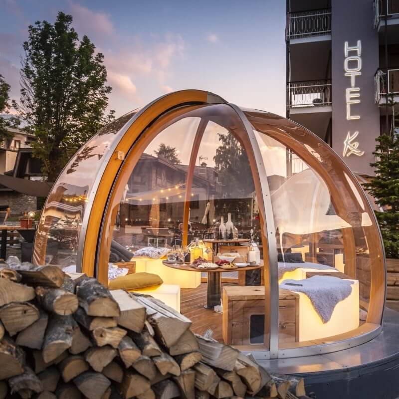
[[[29,285],[59,288],[64,282],[64,272],[57,266],[34,266],[23,262],[9,266],[22,276],[22,281]]]

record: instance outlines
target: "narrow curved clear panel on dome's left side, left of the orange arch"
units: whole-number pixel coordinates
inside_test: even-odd
[[[93,136],[61,172],[40,215],[33,250],[35,264],[76,268],[82,219],[102,158],[135,112],[120,117]]]

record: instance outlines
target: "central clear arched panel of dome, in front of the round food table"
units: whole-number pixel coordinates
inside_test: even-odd
[[[210,329],[220,342],[256,350],[268,344],[262,227],[247,149],[247,134],[227,105],[161,117],[125,161],[103,228],[101,246],[110,250],[98,264],[133,272],[135,261],[135,273],[163,280],[146,293],[189,317],[194,332]],[[202,266],[195,268],[199,257]],[[213,269],[220,260],[234,264]],[[245,266],[248,261],[253,265]],[[200,269],[204,263],[212,269]]]

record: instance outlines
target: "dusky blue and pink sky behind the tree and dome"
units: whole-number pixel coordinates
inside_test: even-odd
[[[285,115],[285,1],[0,0],[0,74],[19,99],[29,24],[73,16],[104,54],[116,116],[176,90]]]

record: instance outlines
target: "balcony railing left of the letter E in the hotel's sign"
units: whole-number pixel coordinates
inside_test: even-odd
[[[331,79],[288,82],[288,109],[324,107],[331,104]]]

